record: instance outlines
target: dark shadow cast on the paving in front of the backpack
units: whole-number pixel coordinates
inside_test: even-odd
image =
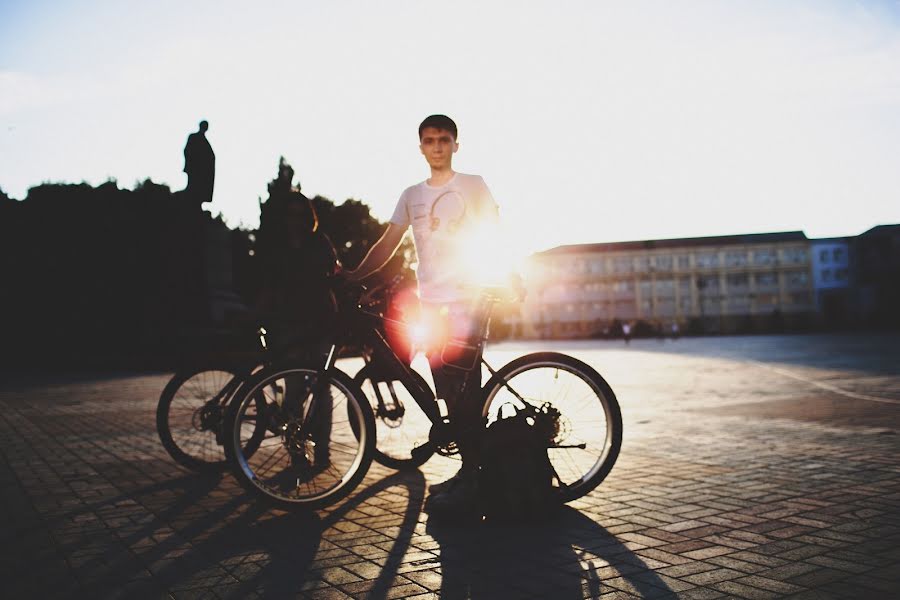
[[[426,532],[440,545],[443,600],[675,596],[615,535],[568,506],[515,525],[429,519]]]

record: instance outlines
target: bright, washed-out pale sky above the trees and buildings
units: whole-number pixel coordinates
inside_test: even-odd
[[[900,222],[900,1],[0,0],[0,188],[184,186],[256,226],[284,155],[389,218],[460,127],[523,251]]]

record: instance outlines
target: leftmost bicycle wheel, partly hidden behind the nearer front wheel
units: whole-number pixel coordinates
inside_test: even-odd
[[[216,432],[198,428],[196,416],[208,400],[231,385],[234,389],[228,390],[220,403],[224,412],[228,398],[238,388],[234,379],[242,376],[238,369],[212,365],[183,369],[172,376],[159,396],[156,431],[166,452],[175,462],[201,472],[216,472],[225,468],[227,460],[224,450],[217,443]],[[190,418],[185,422],[184,417],[188,417],[188,413]]]

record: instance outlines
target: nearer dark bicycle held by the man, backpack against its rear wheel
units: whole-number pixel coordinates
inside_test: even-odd
[[[360,386],[334,365],[346,336],[364,340],[378,372],[402,385],[430,423],[427,439],[398,458],[424,462],[434,452],[456,452],[449,419],[434,392],[382,333],[406,330],[408,324],[367,310],[358,298],[347,294],[339,303],[338,323],[327,340],[323,363],[263,369],[228,404],[225,451],[235,476],[275,505],[333,504],[353,491],[371,465],[375,415]],[[486,332],[500,298],[491,290],[479,297],[480,332]],[[484,424],[496,420],[506,404],[535,417],[555,415],[548,439],[555,493],[561,502],[570,502],[596,488],[612,469],[622,443],[621,412],[609,384],[589,365],[556,352],[527,354],[495,370],[484,359],[484,343],[484,335],[477,341],[457,341],[472,366],[490,374],[484,385],[469,378],[469,385],[477,383],[478,389],[462,391],[478,394]],[[292,393],[269,398],[267,390],[273,386]],[[258,403],[259,396],[265,401]]]

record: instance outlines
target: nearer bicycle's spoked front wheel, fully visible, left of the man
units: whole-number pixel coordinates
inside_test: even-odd
[[[226,426],[235,476],[283,508],[337,502],[365,477],[375,448],[372,409],[337,369],[261,371],[235,394]]]

